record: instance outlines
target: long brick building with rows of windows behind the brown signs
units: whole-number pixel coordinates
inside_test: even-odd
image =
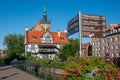
[[[106,28],[106,37],[93,38],[91,44],[96,56],[106,54],[109,54],[110,57],[120,56],[120,24],[110,24]]]

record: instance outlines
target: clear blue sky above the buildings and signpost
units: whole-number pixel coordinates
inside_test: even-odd
[[[0,49],[5,49],[4,36],[24,34],[26,25],[31,29],[42,18],[44,7],[51,31],[63,32],[79,11],[106,16],[107,26],[120,23],[120,0],[0,0]]]

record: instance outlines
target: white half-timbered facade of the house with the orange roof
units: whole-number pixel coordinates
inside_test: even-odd
[[[28,29],[26,30],[26,34]],[[59,34],[60,36],[60,34]],[[34,38],[33,38],[34,39]],[[27,43],[27,35],[25,36],[25,52],[31,52],[33,56],[39,57],[39,58],[50,58],[53,60],[53,58],[55,57],[55,54],[42,54],[40,52],[56,52],[59,53],[59,49],[61,48],[62,45],[60,44],[53,44],[53,37],[50,34],[49,31],[46,31],[45,34],[43,34],[43,36],[41,37],[42,43],[38,43],[38,44],[32,44],[32,43]],[[40,48],[39,45],[55,45],[56,48],[53,49],[48,49],[48,48]]]

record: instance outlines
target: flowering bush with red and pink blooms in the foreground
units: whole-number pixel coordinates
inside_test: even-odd
[[[119,80],[120,68],[110,62],[105,62],[102,57],[73,58],[69,57],[65,62],[64,80]],[[95,76],[87,77],[87,73],[94,70]]]

